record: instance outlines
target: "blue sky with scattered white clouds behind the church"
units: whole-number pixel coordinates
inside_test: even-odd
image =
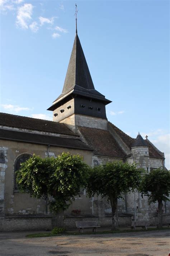
[[[107,118],[170,169],[169,1],[77,1],[77,29]],[[75,37],[75,1],[0,0],[0,112],[52,120]]]

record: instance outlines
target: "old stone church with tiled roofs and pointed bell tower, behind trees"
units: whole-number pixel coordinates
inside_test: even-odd
[[[57,96],[57,95],[56,95]],[[140,134],[131,138],[107,120],[105,105],[111,101],[93,84],[76,32],[69,67],[60,96],[48,108],[53,121],[0,113],[0,230],[51,229],[55,216],[43,199],[19,193],[15,171],[33,154],[57,156],[62,152],[79,153],[90,165],[112,161],[137,162],[150,172],[165,168],[164,153]],[[157,205],[137,191],[118,201],[119,225],[130,225],[132,219],[156,224]],[[163,221],[170,217],[170,205],[164,204]],[[74,216],[72,210],[80,210]],[[100,197],[86,197],[80,190],[64,213],[67,228],[75,221],[95,220],[101,226],[111,225],[111,207]],[[62,220],[61,220],[62,221]]]

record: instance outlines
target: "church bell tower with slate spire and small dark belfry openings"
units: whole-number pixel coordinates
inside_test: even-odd
[[[47,110],[53,111],[53,121],[86,126],[87,122],[92,125],[94,118],[98,123],[107,121],[105,105],[110,102],[94,88],[76,27],[62,93]]]

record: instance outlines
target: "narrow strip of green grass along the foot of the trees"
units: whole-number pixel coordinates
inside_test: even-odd
[[[148,231],[154,231],[154,230],[166,230],[169,228],[148,228],[146,229],[137,229],[137,230],[132,230],[132,229],[124,229],[124,230],[115,230],[115,231],[111,231],[111,230],[106,230],[106,231],[99,231],[97,233],[95,232],[84,232],[84,233],[79,233],[79,232],[75,232],[75,233],[70,233],[70,232],[62,232],[60,234],[52,234],[52,233],[38,233],[38,234],[29,234],[26,235],[27,238],[36,238],[36,237],[54,237],[57,235],[96,235],[96,234],[117,234],[117,233],[135,233],[135,232],[148,232]]]

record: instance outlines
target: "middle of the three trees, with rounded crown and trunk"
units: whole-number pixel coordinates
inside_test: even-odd
[[[118,198],[133,191],[140,184],[141,171],[135,164],[115,161],[95,166],[91,171],[87,192],[107,197],[112,207],[112,230],[118,229]]]

